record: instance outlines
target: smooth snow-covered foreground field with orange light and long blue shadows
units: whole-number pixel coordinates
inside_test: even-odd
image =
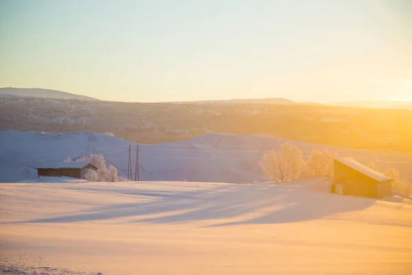
[[[338,196],[323,179],[58,180],[0,184],[0,274],[411,274],[400,197]]]

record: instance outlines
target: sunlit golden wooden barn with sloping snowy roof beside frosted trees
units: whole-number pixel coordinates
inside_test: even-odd
[[[349,157],[334,159],[332,192],[340,195],[382,198],[391,195],[392,179]]]

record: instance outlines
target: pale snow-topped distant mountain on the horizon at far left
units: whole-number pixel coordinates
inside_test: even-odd
[[[0,88],[0,94],[12,96],[32,96],[34,98],[62,98],[62,99],[79,99],[79,100],[96,100],[89,96],[80,96],[77,94],[70,94],[65,91],[56,91],[39,88]]]

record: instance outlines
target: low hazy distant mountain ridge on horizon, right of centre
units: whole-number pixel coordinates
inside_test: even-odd
[[[279,105],[297,105],[310,104],[322,105],[317,102],[296,102],[287,98],[244,98],[244,99],[229,99],[229,100],[199,100],[185,101],[173,103],[196,103],[196,104],[279,104]]]

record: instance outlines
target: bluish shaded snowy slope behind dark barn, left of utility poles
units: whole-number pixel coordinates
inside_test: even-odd
[[[54,166],[65,158],[91,153],[117,155],[128,144],[101,133],[30,133],[0,131],[0,181],[14,182],[36,177],[36,167]],[[122,159],[117,162],[124,166]],[[127,159],[126,159],[127,168]]]

